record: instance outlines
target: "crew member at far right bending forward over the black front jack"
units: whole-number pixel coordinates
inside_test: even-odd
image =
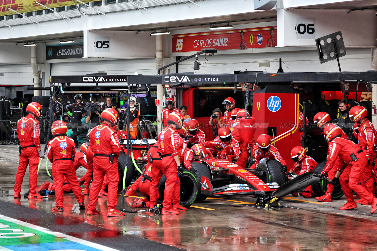
[[[354,201],[353,190],[361,198],[366,200],[368,203],[371,203],[371,213],[374,213],[377,210],[377,198],[360,184],[363,172],[366,168],[370,168],[370,165],[368,165],[368,157],[366,157],[366,154],[358,145],[352,141],[341,138],[341,135],[342,131],[339,127],[326,127],[325,138],[329,144],[327,153],[328,157],[326,165],[318,177],[322,178],[324,175],[326,175],[326,173],[337,162],[339,157],[341,161],[338,164],[338,171],[336,172],[333,181],[336,181],[336,179],[340,176],[340,185],[342,186],[342,190],[347,198],[346,204],[339,209],[348,210],[357,207],[357,204]],[[342,175],[340,175],[341,172]]]

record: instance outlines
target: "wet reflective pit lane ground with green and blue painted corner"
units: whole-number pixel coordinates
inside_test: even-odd
[[[64,211],[52,212],[54,196],[13,198],[18,148],[0,145],[0,153],[0,250],[377,249],[377,215],[370,214],[371,206],[362,205],[340,211],[345,197],[320,203],[287,196],[280,201],[282,207],[270,209],[256,207],[251,196],[208,198],[176,216],[128,213],[107,217],[107,198],[98,200],[100,215],[87,216],[73,194],[64,194]],[[51,171],[51,164],[49,167]],[[83,168],[77,171],[78,177],[84,173]],[[42,165],[38,184],[49,179]],[[22,187],[21,194],[28,190],[28,171]],[[118,196],[118,209],[120,199]],[[126,208],[132,199],[125,198]]]

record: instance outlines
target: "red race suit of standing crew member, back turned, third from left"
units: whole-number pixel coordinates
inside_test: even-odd
[[[90,131],[89,147],[93,151],[93,181],[89,193],[88,210],[94,210],[98,201],[98,193],[101,190],[104,176],[108,181],[107,209],[114,209],[116,206],[116,191],[118,191],[118,161],[121,146],[118,134],[108,124],[94,127]],[[115,154],[112,163],[109,161],[109,154]]]

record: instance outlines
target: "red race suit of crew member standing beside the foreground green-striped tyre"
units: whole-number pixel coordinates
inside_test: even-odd
[[[162,174],[166,177],[164,210],[171,210],[173,206],[174,190],[178,182],[178,166],[174,156],[178,156],[179,133],[175,128],[167,126],[158,135],[159,144],[157,150],[151,150],[152,156],[152,186],[150,187],[150,207],[156,204],[158,198],[158,183]],[[157,143],[154,145],[157,146]],[[152,148],[151,148],[152,149]],[[159,154],[158,154],[159,153]],[[161,155],[161,156],[160,156]]]

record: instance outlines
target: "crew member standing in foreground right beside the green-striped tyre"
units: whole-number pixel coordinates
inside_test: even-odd
[[[164,201],[162,203],[163,215],[178,215],[175,210],[178,205],[173,205],[174,189],[178,180],[178,173],[184,170],[179,162],[179,133],[176,129],[181,129],[183,116],[181,113],[170,113],[167,118],[168,126],[162,129],[158,135],[159,146],[157,151],[151,151],[152,159],[152,186],[150,187],[150,208],[156,205],[158,198],[158,183],[162,174],[166,177]],[[157,145],[157,144],[156,144]],[[179,205],[180,206],[180,205]]]

